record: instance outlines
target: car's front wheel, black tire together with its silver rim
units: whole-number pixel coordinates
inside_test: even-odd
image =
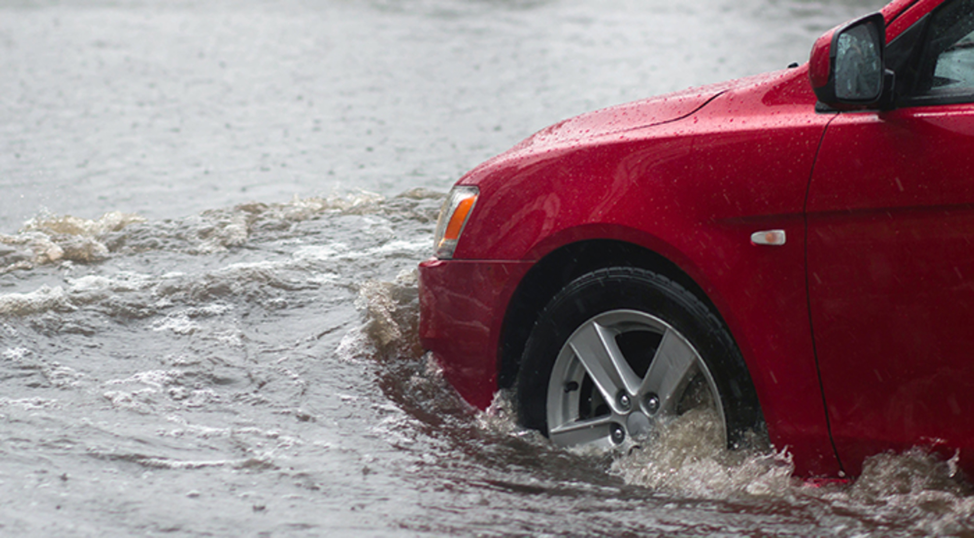
[[[522,425],[565,446],[646,434],[699,404],[701,388],[729,447],[763,430],[724,323],[673,280],[636,268],[595,270],[565,286],[532,329],[516,382]]]

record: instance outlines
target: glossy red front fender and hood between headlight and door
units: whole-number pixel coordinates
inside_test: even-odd
[[[464,182],[481,196],[457,257],[532,262],[597,238],[665,257],[728,324],[772,443],[800,473],[835,474],[805,286],[805,195],[832,118],[814,101],[806,68],[792,69],[680,121],[503,156]],[[786,244],[752,244],[765,230]]]

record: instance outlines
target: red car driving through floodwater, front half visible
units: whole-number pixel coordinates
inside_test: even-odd
[[[581,115],[464,176],[423,345],[559,445],[711,405],[800,475],[974,471],[974,0],[897,0],[805,65]]]

